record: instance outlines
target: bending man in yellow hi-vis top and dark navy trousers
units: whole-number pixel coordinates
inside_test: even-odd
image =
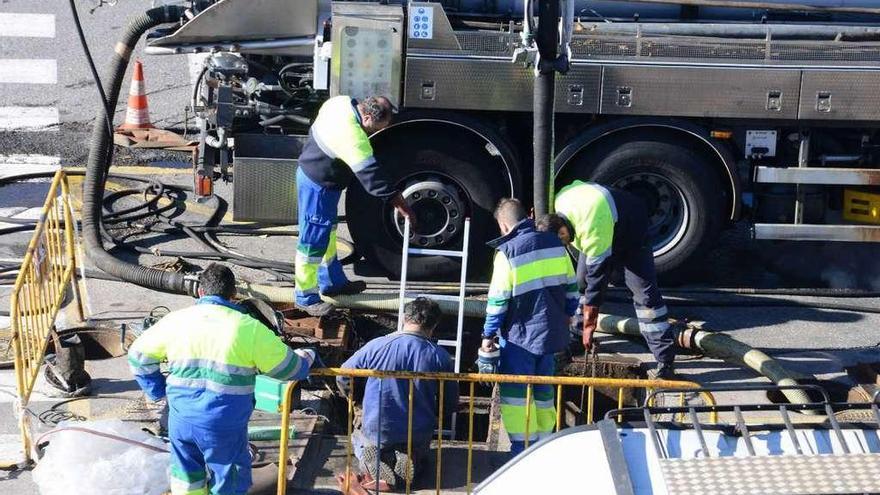
[[[657,360],[652,375],[673,378],[674,332],[657,286],[644,202],[626,191],[574,181],[559,191],[555,206],[556,213],[541,219],[538,228],[556,233],[563,244],[580,252],[584,347],[589,350],[594,345],[599,307],[612,270],[620,265],[625,270],[626,286],[633,293],[639,330]]]

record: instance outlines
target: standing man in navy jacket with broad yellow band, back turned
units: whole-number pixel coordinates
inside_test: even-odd
[[[555,354],[568,347],[569,322],[578,304],[571,259],[555,235],[535,229],[518,200],[502,199],[495,220],[502,235],[489,243],[497,252],[479,369],[494,371],[486,367],[486,356],[500,348],[498,373],[553,376]],[[533,400],[526,404],[525,385],[501,384],[501,420],[511,455],[525,448],[526,417],[529,442],[549,435],[556,426],[553,387],[535,385],[532,390]]]

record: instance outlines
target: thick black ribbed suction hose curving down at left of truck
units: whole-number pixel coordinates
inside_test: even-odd
[[[183,13],[182,7],[166,5],[150,9],[129,22],[122,38],[116,43],[108,73],[104,78],[104,92],[108,103],[106,108],[116,108],[129,57],[141,36],[150,28],[179,21]],[[104,249],[101,240],[101,203],[113,155],[113,136],[104,126],[108,118],[106,108],[98,107],[83,180],[82,226],[85,251],[95,266],[114,277],[163,292],[193,294],[196,284],[185,278],[184,274],[128,263]]]

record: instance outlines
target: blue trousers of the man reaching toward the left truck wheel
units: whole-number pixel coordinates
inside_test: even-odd
[[[336,257],[337,206],[342,190],[317,184],[300,168],[296,172],[296,191],[296,303],[310,306],[321,302],[321,292],[348,284]]]

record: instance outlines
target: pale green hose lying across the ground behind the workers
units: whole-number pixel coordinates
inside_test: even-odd
[[[242,283],[238,287],[242,297],[259,297],[270,302],[293,303],[293,289],[267,285]],[[324,300],[339,308],[358,309],[362,311],[397,312],[399,301],[396,292],[379,294],[358,294],[354,296],[324,296]],[[458,303],[455,301],[437,301],[444,314],[458,314]],[[464,315],[469,318],[483,318],[486,315],[486,302],[476,299],[465,299]],[[606,334],[642,337],[639,322],[635,318],[615,315],[599,315],[598,331]],[[681,338],[685,337],[685,338]],[[738,366],[751,368],[759,375],[767,377],[777,385],[797,385],[796,375],[785,368],[779,361],[767,354],[752,348],[733,337],[720,332],[708,332],[699,329],[688,329],[680,336],[679,342],[684,347],[693,346],[703,354],[714,359]],[[809,404],[813,401],[803,390],[783,390],[785,397],[792,404]]]

